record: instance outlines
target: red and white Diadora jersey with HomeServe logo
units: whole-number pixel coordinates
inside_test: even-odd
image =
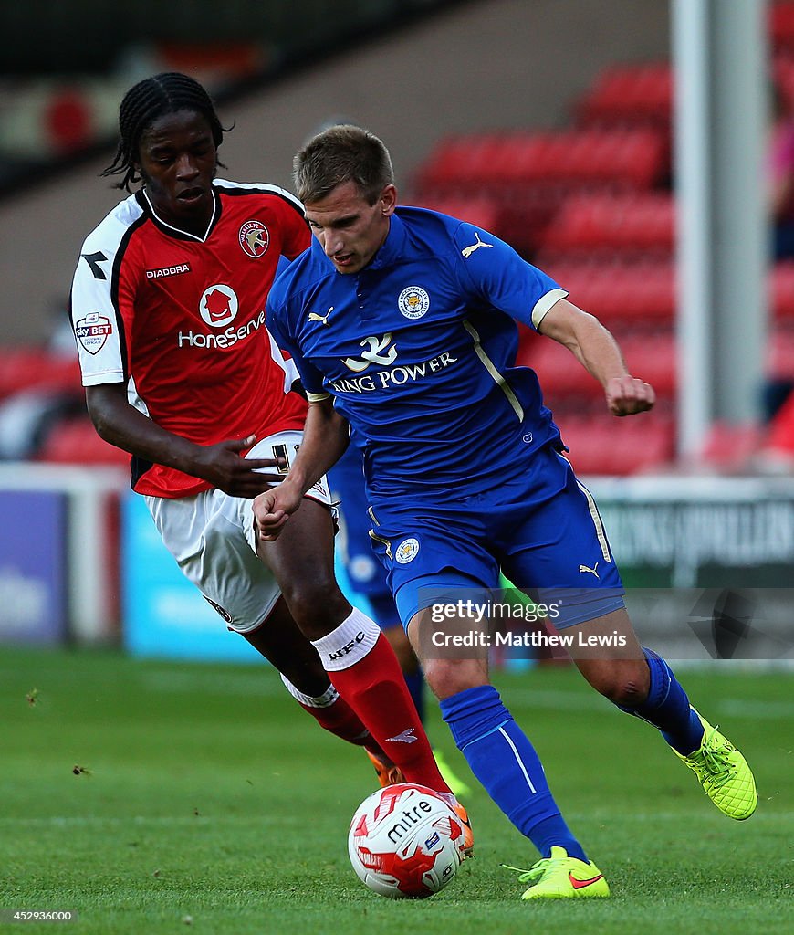
[[[311,242],[303,207],[273,185],[214,186],[205,237],[164,223],[142,191],[122,201],[86,238],[70,296],[83,385],[125,382],[154,422],[203,445],[302,429],[306,411],[264,324],[279,257]],[[140,494],[209,486],[133,459]]]

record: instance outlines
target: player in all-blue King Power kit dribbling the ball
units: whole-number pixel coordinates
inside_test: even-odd
[[[351,435],[363,450],[376,554],[444,720],[489,796],[540,852],[519,877],[532,884],[523,899],[605,897],[609,887],[489,683],[487,652],[433,650],[438,627],[427,638],[439,597],[454,604],[456,594],[496,588],[500,566],[533,595],[557,598],[558,629],[619,635],[619,653],[577,653],[578,669],[658,727],[720,811],[748,818],[757,795],[744,757],[634,635],[592,496],[561,454],[536,375],[515,367],[514,319],[573,352],[616,416],[650,410],[653,388],[631,376],[602,324],[507,244],[434,211],[398,208],[389,152],[369,132],[332,127],[294,168],[315,239],[276,281],[267,322],[311,405],[287,478],[254,502],[261,538],[278,536]],[[447,634],[471,630],[462,607],[445,619]]]

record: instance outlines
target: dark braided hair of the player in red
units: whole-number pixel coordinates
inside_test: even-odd
[[[138,158],[138,147],[144,131],[164,114],[177,113],[177,110],[193,110],[206,117],[212,130],[212,139],[216,149],[220,146],[223,142],[223,134],[228,133],[228,129],[220,125],[215,105],[204,87],[195,79],[182,75],[180,72],[163,72],[138,81],[124,94],[119,108],[121,133],[119,147],[116,150],[115,159],[102,172],[102,175],[111,176],[123,173],[123,178],[116,183],[115,187],[131,192],[130,185],[141,181],[141,177],[135,170],[135,161]]]

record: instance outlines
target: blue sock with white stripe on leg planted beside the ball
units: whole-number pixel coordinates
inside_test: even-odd
[[[458,749],[490,798],[540,851],[552,845],[587,861],[560,814],[532,743],[504,707],[492,685],[467,688],[441,702],[441,713]]]

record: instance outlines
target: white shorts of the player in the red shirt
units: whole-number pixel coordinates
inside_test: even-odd
[[[292,458],[302,439],[301,432],[278,432],[258,441],[248,457],[276,457],[278,445]],[[305,496],[333,509],[325,478]],[[177,499],[144,499],[165,547],[229,628],[248,633],[260,626],[281,592],[256,554],[253,500],[216,488]]]

